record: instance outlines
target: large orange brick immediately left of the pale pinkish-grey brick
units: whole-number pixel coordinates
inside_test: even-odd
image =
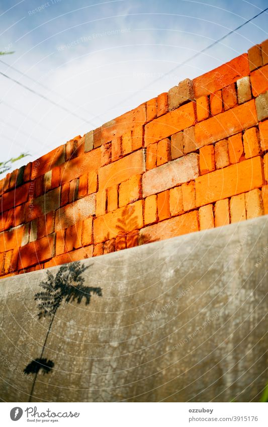
[[[99,189],[120,184],[132,175],[145,172],[144,150],[135,151],[111,164],[99,169]]]

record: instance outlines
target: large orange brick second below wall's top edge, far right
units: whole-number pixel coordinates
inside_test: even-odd
[[[251,100],[231,110],[211,117],[195,126],[197,148],[219,141],[257,124],[255,101]]]

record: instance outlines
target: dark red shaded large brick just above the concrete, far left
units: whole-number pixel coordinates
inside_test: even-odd
[[[52,234],[21,247],[18,269],[21,270],[34,266],[52,258],[54,254],[54,241],[55,235]]]

